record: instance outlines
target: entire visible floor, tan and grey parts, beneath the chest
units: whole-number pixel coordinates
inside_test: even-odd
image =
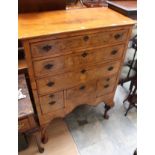
[[[78,107],[65,121],[55,120],[48,130],[49,142],[44,145],[43,155],[133,155],[137,147],[137,113],[132,109],[124,116],[122,101],[126,95],[126,88],[118,86],[109,120],[102,117],[103,103]],[[19,155],[39,155],[34,141]]]

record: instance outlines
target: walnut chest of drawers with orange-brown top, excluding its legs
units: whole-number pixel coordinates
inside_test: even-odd
[[[108,8],[19,15],[40,125],[113,97],[134,21]]]

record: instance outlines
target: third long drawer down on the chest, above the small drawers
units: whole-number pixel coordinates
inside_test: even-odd
[[[39,94],[47,94],[76,86],[82,82],[98,79],[118,72],[120,62],[99,64],[91,68],[82,68],[76,72],[46,77],[37,80]]]

